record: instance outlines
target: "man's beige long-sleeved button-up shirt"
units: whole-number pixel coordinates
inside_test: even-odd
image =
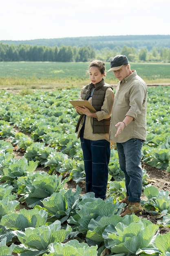
[[[123,143],[136,138],[146,140],[146,108],[147,108],[147,85],[137,75],[136,70],[117,85],[115,100],[110,122],[109,139]],[[133,121],[115,137],[118,122],[126,116],[133,117]]]

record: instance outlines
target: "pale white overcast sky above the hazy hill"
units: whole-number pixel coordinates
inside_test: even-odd
[[[0,0],[0,40],[170,35],[169,0]]]

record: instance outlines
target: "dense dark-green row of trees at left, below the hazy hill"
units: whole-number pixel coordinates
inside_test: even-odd
[[[0,61],[86,62],[95,58],[91,47],[0,44]]]

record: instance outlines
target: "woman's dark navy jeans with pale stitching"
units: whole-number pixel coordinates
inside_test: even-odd
[[[110,142],[105,139],[91,141],[80,138],[84,169],[86,173],[86,193],[94,192],[95,198],[106,198]]]

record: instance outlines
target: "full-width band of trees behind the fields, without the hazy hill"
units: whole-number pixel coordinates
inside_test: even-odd
[[[137,49],[124,45],[116,46],[113,49],[108,47],[100,50],[93,49],[90,46],[67,46],[57,45],[38,46],[38,45],[9,45],[0,43],[0,61],[54,61],[54,62],[87,62],[89,59],[98,58],[109,62],[110,58],[117,54],[124,54],[129,61],[152,61],[152,62],[170,62],[169,47],[152,47],[150,51],[146,47]]]

